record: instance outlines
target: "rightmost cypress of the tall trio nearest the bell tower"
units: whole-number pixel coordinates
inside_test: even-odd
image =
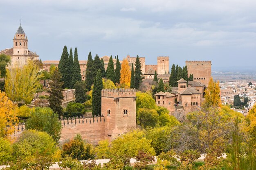
[[[80,69],[80,64],[77,56],[77,48],[75,48],[71,88],[73,89],[76,82],[81,81],[81,79],[82,79],[82,76],[81,76],[81,69]]]

